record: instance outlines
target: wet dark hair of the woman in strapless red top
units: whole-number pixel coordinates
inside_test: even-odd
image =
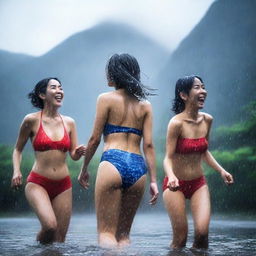
[[[175,98],[172,103],[172,111],[175,114],[179,114],[185,109],[185,102],[180,97],[180,93],[183,92],[189,95],[190,90],[192,89],[195,78],[198,78],[202,83],[203,79],[199,76],[191,75],[185,76],[183,78],[178,79],[175,86]]]

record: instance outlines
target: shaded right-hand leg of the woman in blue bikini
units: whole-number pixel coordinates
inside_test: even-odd
[[[124,190],[121,198],[120,215],[116,239],[119,245],[130,243],[129,235],[135,213],[145,191],[146,175],[143,175],[134,185]]]

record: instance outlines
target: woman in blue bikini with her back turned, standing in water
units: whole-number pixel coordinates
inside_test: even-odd
[[[95,185],[98,241],[103,247],[130,243],[133,218],[142,199],[149,171],[150,204],[158,197],[155,150],[152,142],[152,108],[149,88],[140,82],[137,60],[114,54],[106,66],[107,80],[115,91],[99,95],[93,133],[89,139],[79,183],[88,188],[88,164],[104,135],[104,152]],[[140,143],[143,138],[141,155]]]

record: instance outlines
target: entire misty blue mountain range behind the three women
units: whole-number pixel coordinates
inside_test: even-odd
[[[77,33],[40,57],[0,51],[0,143],[15,142],[22,118],[35,111],[26,95],[47,76],[61,79],[61,113],[76,120],[79,141],[84,143],[92,129],[97,95],[111,90],[106,85],[106,61],[121,52],[134,55],[142,81],[158,89],[158,96],[151,98],[158,135],[165,136],[172,115],[176,80],[190,74],[205,82],[205,111],[214,116],[215,126],[243,120],[243,106],[256,99],[255,10],[255,0],[215,1],[173,53],[134,28],[111,22]]]

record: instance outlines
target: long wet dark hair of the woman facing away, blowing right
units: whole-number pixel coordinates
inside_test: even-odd
[[[141,83],[138,61],[127,53],[112,55],[107,62],[106,73],[108,80],[115,83],[116,89],[123,88],[137,100],[147,99],[148,96],[155,95],[150,92],[154,89]]]

